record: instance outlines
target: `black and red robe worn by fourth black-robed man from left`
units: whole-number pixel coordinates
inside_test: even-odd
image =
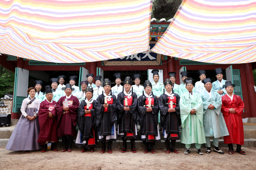
[[[146,142],[160,142],[159,130],[158,130],[158,98],[152,95],[151,98],[151,112],[146,112],[148,107],[148,98],[141,95],[138,99],[138,118],[140,124],[140,135],[146,135],[146,138],[142,138],[142,141]],[[154,106],[153,106],[154,105]]]

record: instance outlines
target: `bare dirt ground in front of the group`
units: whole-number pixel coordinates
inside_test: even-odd
[[[185,155],[185,149],[179,149],[180,153],[166,154],[165,150],[156,150],[156,154],[144,154],[143,150],[132,153],[128,150],[113,150],[112,154],[101,154],[99,149],[94,153],[86,151],[80,153],[80,149],[74,149],[71,153],[61,153],[48,150],[41,153],[40,150],[23,153],[22,151],[8,151],[0,147],[1,169],[256,169],[256,149],[242,148],[247,155],[234,152],[233,155],[214,153],[204,155],[196,153],[192,149],[189,155]]]

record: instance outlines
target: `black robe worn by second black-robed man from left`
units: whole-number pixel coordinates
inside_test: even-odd
[[[96,112],[96,126],[99,129],[99,136],[109,136],[112,135],[117,111],[117,99],[116,96],[111,96],[111,100],[108,101],[109,107],[103,107],[105,95],[101,94],[95,102],[95,112]],[[105,140],[105,139],[104,139]],[[101,142],[102,139],[99,138]],[[106,142],[116,141],[116,139],[109,139]]]

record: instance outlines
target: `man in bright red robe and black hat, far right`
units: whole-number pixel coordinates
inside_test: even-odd
[[[244,102],[240,96],[233,93],[235,84],[226,81],[224,86],[227,94],[222,96],[221,112],[229,130],[229,136],[223,137],[224,143],[229,146],[229,154],[233,154],[234,143],[237,144],[236,152],[246,155],[241,149],[241,145],[244,145],[244,126],[241,116],[244,110]]]

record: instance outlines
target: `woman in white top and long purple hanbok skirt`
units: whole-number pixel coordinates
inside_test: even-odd
[[[40,127],[38,122],[38,110],[40,100],[35,98],[35,88],[30,87],[27,92],[30,97],[22,102],[20,111],[22,116],[15,126],[14,131],[5,147],[13,151],[32,151],[42,149],[40,143],[37,143]]]

